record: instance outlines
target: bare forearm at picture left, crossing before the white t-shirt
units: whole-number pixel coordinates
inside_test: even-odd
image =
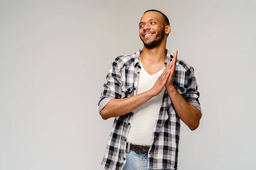
[[[123,99],[111,99],[100,112],[102,119],[122,116],[137,109],[140,105],[154,97],[151,91],[145,91],[141,94]]]

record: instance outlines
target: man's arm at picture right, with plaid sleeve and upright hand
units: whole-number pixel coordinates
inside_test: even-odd
[[[166,82],[166,90],[180,119],[189,127],[190,130],[195,130],[199,126],[201,111],[195,107],[198,106],[200,108],[198,102],[199,93],[197,91],[193,68],[190,69],[191,74],[189,75],[186,98],[184,99],[173,85],[176,62],[177,51],[175,51],[175,55],[173,57],[171,75]]]

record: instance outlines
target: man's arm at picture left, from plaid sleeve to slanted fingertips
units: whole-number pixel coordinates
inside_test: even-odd
[[[105,85],[105,88],[102,92],[101,98],[105,98],[105,100],[108,101],[108,103],[99,111],[102,119],[104,120],[130,113],[140,105],[143,105],[145,102],[150,100],[152,97],[160,94],[170,75],[170,68],[172,67],[172,65],[166,66],[163,74],[157,79],[154,86],[150,90],[141,94],[121,99],[121,76],[119,69],[115,65],[116,64],[112,64],[111,66],[110,73],[107,76],[107,84]],[[117,91],[118,93],[116,93]],[[102,99],[99,101],[99,106],[101,101]]]

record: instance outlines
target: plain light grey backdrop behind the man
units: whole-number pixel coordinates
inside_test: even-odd
[[[102,170],[113,123],[98,113],[139,21],[169,17],[167,48],[195,69],[200,126],[181,125],[179,170],[255,170],[256,1],[1,0],[0,170]]]

